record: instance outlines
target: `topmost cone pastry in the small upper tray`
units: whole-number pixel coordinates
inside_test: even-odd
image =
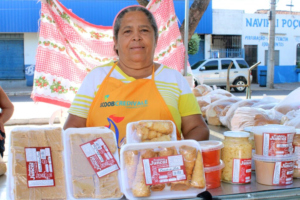
[[[173,132],[172,122],[167,121],[142,121],[139,122],[140,126],[144,126],[150,130],[161,132],[164,134],[170,134]]]

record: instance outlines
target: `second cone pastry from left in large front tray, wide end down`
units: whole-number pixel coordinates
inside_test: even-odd
[[[150,186],[146,185],[143,159],[155,157],[157,154],[153,149],[140,150],[137,173],[132,184],[132,194],[136,197],[150,196]]]

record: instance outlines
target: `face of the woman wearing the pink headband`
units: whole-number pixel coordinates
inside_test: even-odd
[[[121,20],[118,39],[113,39],[122,62],[153,62],[157,41],[143,11],[126,13]]]

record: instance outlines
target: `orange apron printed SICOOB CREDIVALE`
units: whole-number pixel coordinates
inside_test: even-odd
[[[131,83],[110,77],[117,62],[104,78],[91,104],[86,127],[105,126],[116,133],[118,148],[126,136],[126,125],[139,120],[174,119],[156,88],[154,65],[152,79],[137,79]],[[177,140],[181,135],[176,127]]]

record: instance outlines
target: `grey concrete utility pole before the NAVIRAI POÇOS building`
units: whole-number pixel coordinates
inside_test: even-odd
[[[268,45],[268,64],[267,64],[267,87],[274,88],[274,42],[275,42],[275,0],[271,0],[269,11],[269,45]]]

